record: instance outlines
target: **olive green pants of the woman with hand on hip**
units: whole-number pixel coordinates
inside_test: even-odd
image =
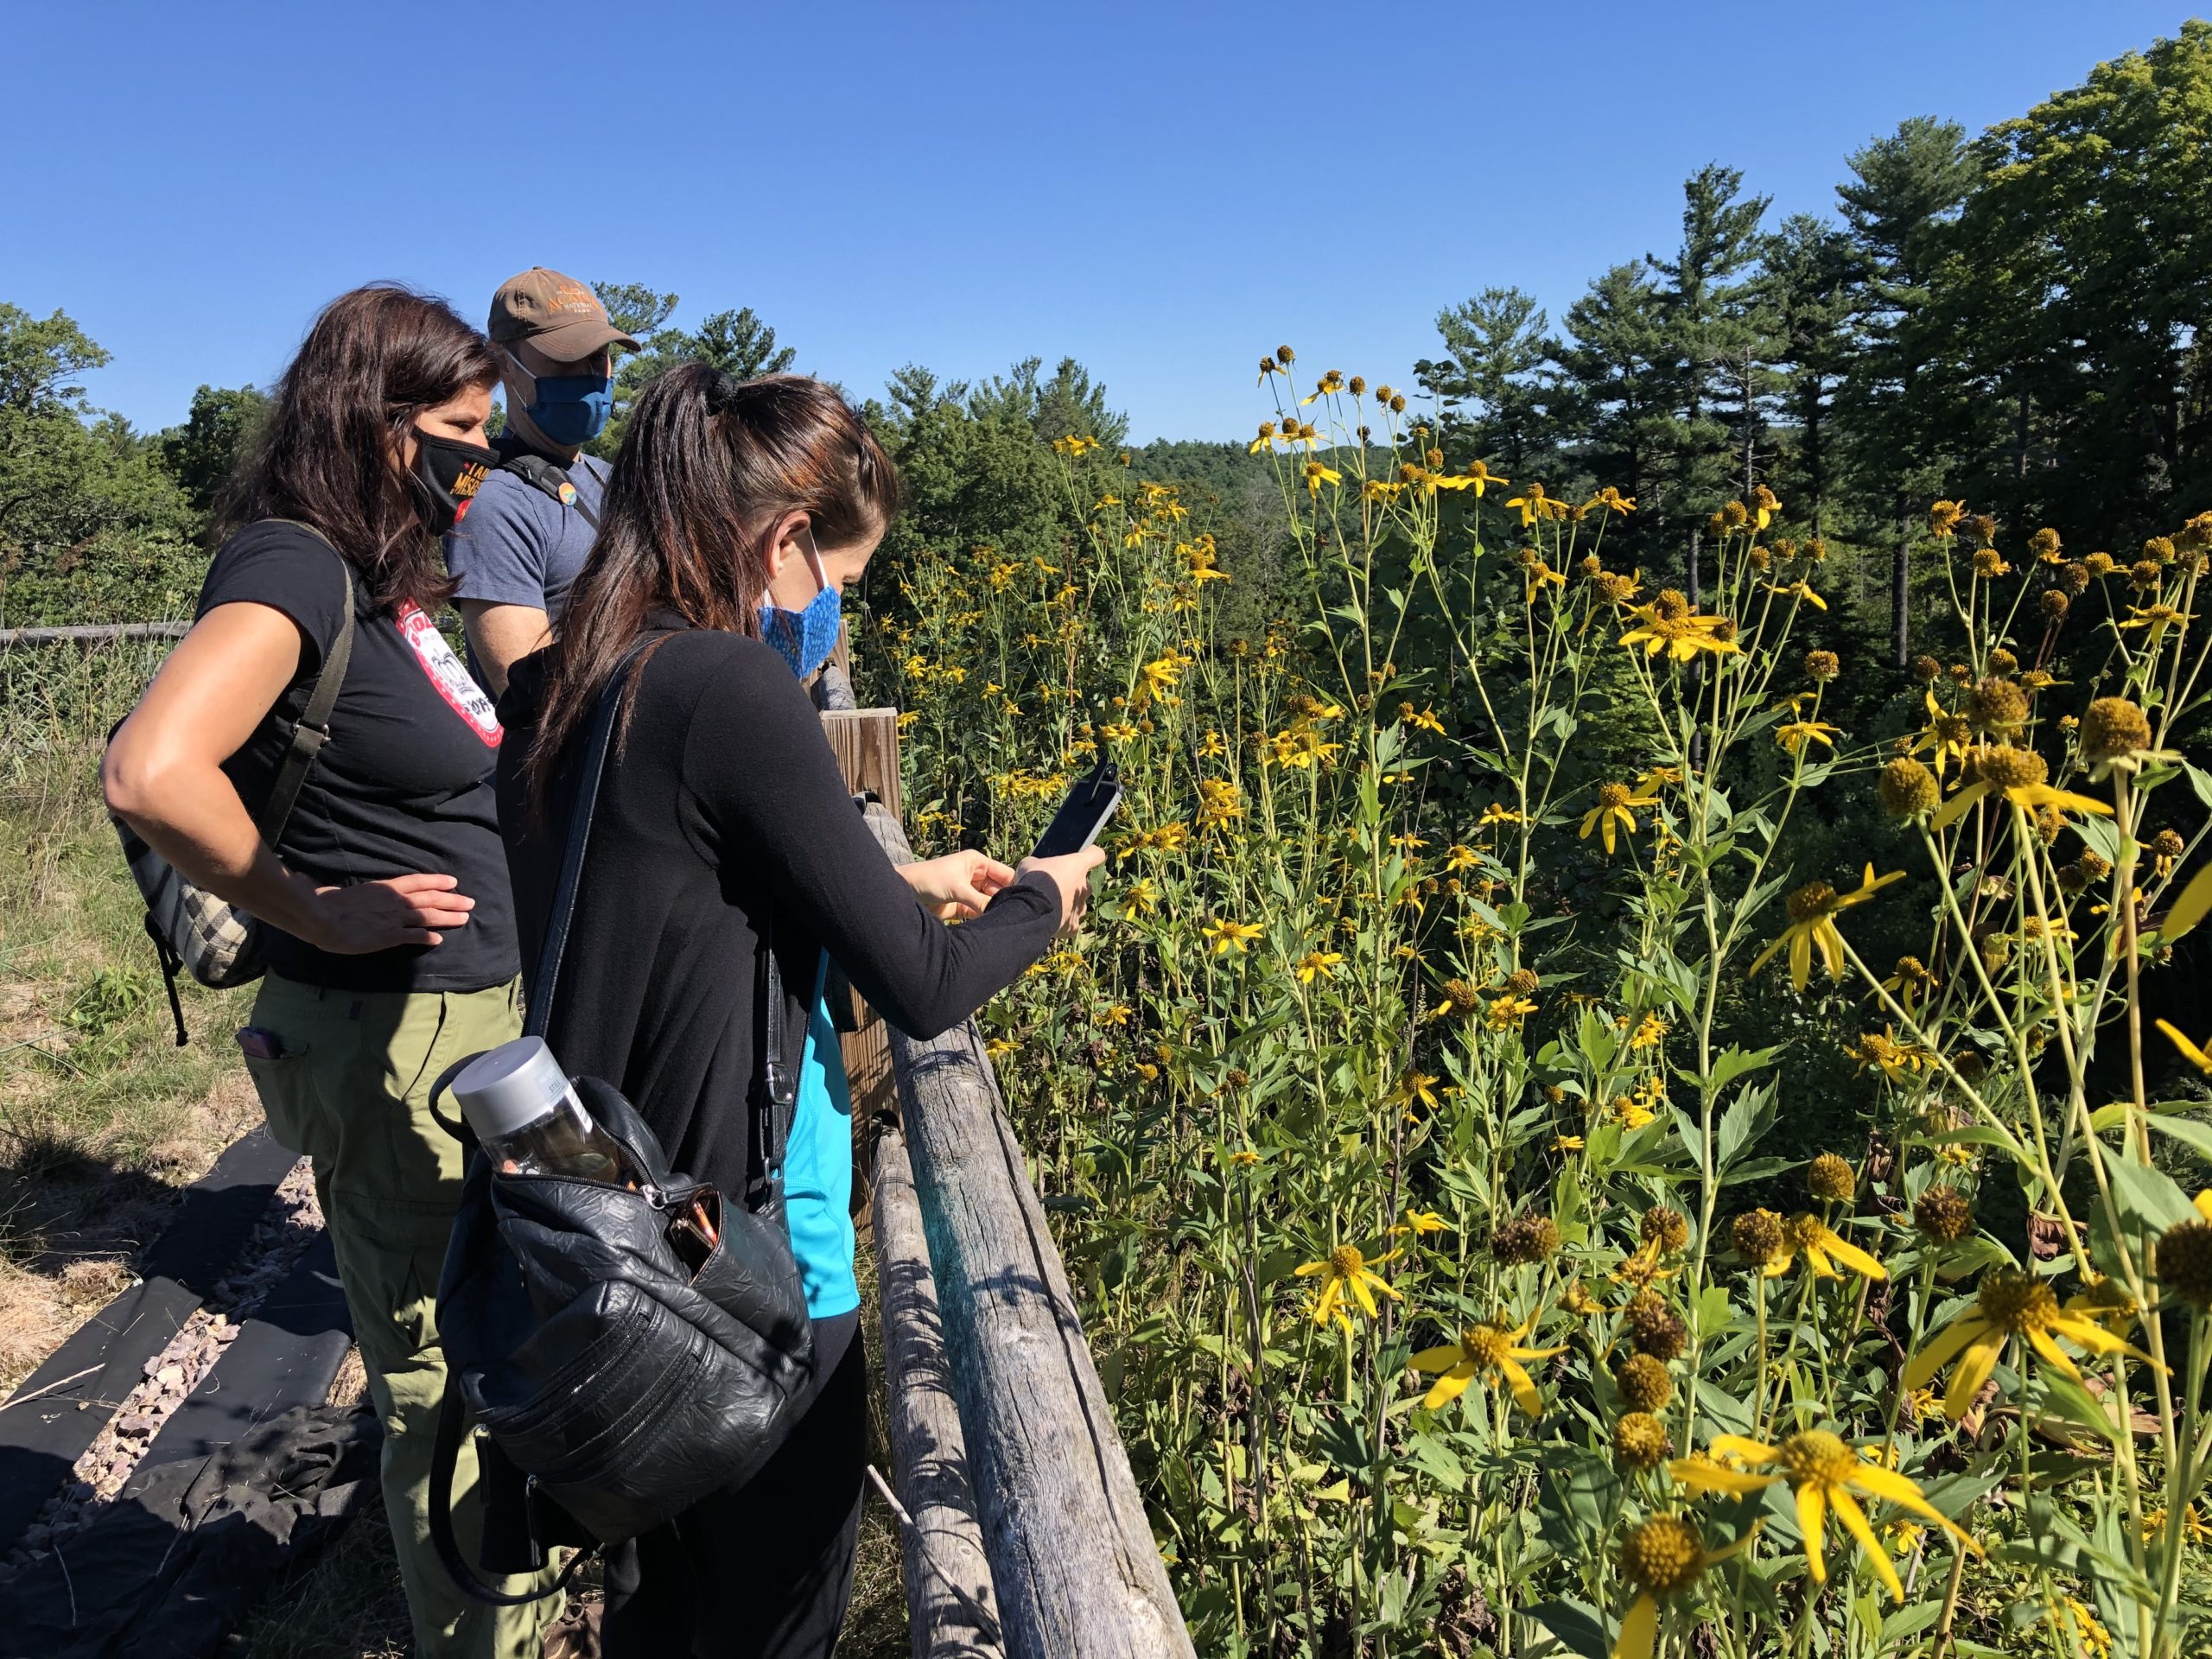
[[[385,1425],[383,1486],[422,1659],[538,1659],[562,1597],[522,1608],[471,1601],[429,1542],[429,1455],[445,1396],[438,1274],[460,1203],[460,1144],[429,1115],[429,1088],[462,1055],[522,1035],[520,991],[325,991],[274,973],[254,1026],[283,1044],[248,1060],[270,1135],[314,1159],[369,1398]],[[473,1557],[476,1453],[460,1449],[453,1522]],[[529,1588],[509,1579],[502,1588]],[[540,1586],[542,1588],[542,1586]]]

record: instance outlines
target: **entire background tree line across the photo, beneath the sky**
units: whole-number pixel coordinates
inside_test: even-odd
[[[1619,487],[1639,502],[1630,557],[1670,580],[1721,502],[1770,487],[1845,553],[1869,633],[1867,573],[1887,577],[1880,622],[1902,661],[1931,498],[2115,551],[2205,504],[2208,159],[2212,24],[2188,22],[1980,137],[1902,122],[1847,157],[1834,215],[1776,219],[1714,161],[1683,186],[1677,248],[1608,268],[1557,325],[1526,292],[1484,288],[1438,314],[1442,354],[1413,374],[1453,462],[1553,493]],[[681,327],[677,294],[597,290],[641,349],[617,369],[595,453],[675,363],[799,365],[750,307]],[[84,392],[106,361],[66,314],[0,303],[0,622],[190,604],[208,511],[265,398],[204,385],[179,425],[137,431]],[[894,553],[1051,538],[1073,509],[1042,440],[1128,436],[1073,358],[978,383],[909,365],[865,407],[909,484]],[[1263,458],[1157,442],[1130,465],[1186,482],[1225,553],[1265,573],[1281,504]]]

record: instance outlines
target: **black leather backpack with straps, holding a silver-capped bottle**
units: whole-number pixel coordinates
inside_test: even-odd
[[[626,679],[615,675],[593,714],[529,1033],[542,1035],[553,1009]],[[469,1157],[438,1285],[447,1391],[429,1526],[447,1573],[482,1601],[520,1604],[553,1590],[504,1595],[462,1559],[451,1491],[465,1416],[482,1431],[482,1566],[533,1573],[551,1544],[619,1544],[750,1478],[812,1389],[814,1332],[779,1183],[796,1095],[783,1064],[779,978],[772,929],[763,929],[754,982],[761,1064],[748,1099],[759,1175],[741,1199],[670,1170],[630,1102],[597,1077],[577,1077],[577,1097],[630,1155],[644,1175],[639,1190],[502,1175],[480,1150]],[[438,1079],[431,1110],[456,1071]],[[719,1234],[712,1250],[692,1230],[670,1228],[695,1201]]]

